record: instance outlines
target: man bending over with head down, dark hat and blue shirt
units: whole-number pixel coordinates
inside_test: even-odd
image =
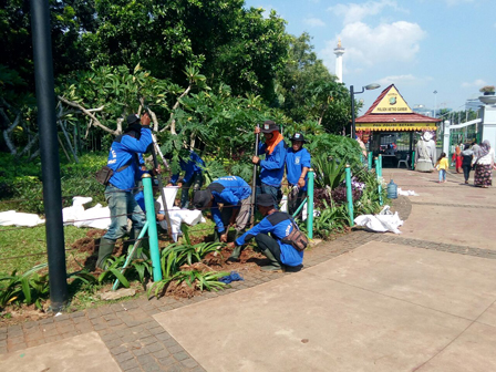
[[[214,180],[205,190],[195,193],[193,205],[197,209],[210,207],[215,221],[215,240],[227,242],[229,226],[235,226],[236,238],[245,232],[250,219],[251,188],[238,176]],[[226,226],[228,225],[228,226]]]

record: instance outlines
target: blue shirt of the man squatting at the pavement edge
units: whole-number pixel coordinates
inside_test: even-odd
[[[303,251],[297,250],[293,246],[283,244],[281,240],[286,238],[294,228],[294,225],[287,213],[275,211],[265,217],[258,225],[246,231],[236,239],[237,246],[242,246],[258,234],[271,234],[281,248],[281,262],[287,266],[299,266],[303,262]]]

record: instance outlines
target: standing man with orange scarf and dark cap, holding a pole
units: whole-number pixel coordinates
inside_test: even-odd
[[[279,126],[272,121],[264,122],[261,128],[255,128],[255,133],[264,133],[265,143],[259,144],[258,153],[265,154],[262,161],[254,156],[251,162],[260,166],[260,185],[257,186],[257,196],[259,194],[269,194],[273,197],[273,206],[278,208],[282,199],[281,182],[285,175],[286,143]]]

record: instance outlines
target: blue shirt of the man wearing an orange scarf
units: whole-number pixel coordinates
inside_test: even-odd
[[[260,161],[260,180],[262,184],[280,187],[285,175],[286,143],[281,141],[277,144],[272,154],[268,154],[267,144],[258,146],[259,154],[266,154],[266,158]]]

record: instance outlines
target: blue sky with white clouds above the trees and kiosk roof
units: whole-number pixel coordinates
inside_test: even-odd
[[[331,73],[341,40],[343,83],[354,91],[381,84],[355,95],[362,114],[393,83],[412,108],[454,111],[496,85],[496,0],[246,0],[246,7],[273,9],[290,34],[308,32]]]

